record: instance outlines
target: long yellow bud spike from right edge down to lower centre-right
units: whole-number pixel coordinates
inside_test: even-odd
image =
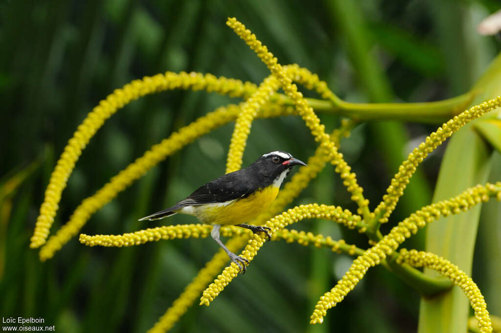
[[[382,240],[368,249],[364,255],[359,256],[353,261],[348,272],[338,281],[334,288],[320,297],[310,317],[310,323],[321,323],[327,314],[327,310],[342,301],[348,292],[353,290],[358,281],[364,277],[370,267],[378,265],[387,255],[395,251],[405,239],[415,234],[418,228],[422,228],[427,223],[437,220],[442,215],[456,214],[454,213],[454,208],[458,208],[458,213],[460,213],[478,204],[484,196],[497,198],[499,193],[501,193],[501,182],[495,185],[489,183],[485,186],[477,185],[467,189],[456,197],[425,206],[411,214],[408,218],[398,223],[397,226],[393,227]]]

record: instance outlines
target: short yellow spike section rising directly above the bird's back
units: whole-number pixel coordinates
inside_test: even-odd
[[[235,122],[231,135],[226,173],[237,171],[242,165],[243,150],[250,133],[250,126],[258,115],[258,110],[270,99],[271,95],[279,88],[279,83],[274,76],[267,77],[258,90],[241,105],[241,112]]]

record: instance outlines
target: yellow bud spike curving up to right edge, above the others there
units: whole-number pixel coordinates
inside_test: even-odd
[[[480,117],[481,115],[501,106],[501,96],[490,99],[479,105],[472,106],[468,110],[463,111],[454,118],[444,123],[441,127],[431,133],[426,139],[419,144],[417,148],[409,154],[407,159],[400,165],[398,173],[393,177],[390,186],[386,190],[386,195],[383,196],[383,201],[379,203],[374,213],[376,215],[382,213],[379,219],[380,223],[388,222],[388,218],[395,209],[399,198],[403,195],[409,180],[416,171],[419,163],[423,161],[430,152],[442,144],[445,139],[450,137],[459,128],[469,123],[471,120]]]

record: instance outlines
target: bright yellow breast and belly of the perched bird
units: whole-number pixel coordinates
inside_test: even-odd
[[[269,186],[228,205],[203,205],[197,207],[195,215],[207,224],[233,225],[246,223],[256,218],[277,198],[279,188]]]

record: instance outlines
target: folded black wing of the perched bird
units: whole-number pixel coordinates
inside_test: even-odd
[[[244,170],[223,175],[218,179],[201,186],[177,205],[205,205],[245,198],[254,193],[258,187]]]

